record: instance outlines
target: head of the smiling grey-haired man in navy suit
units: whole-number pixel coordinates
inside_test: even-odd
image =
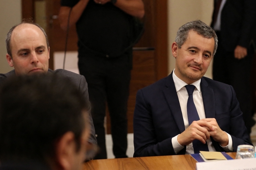
[[[217,44],[216,33],[202,21],[191,21],[181,26],[172,43],[172,55],[176,58],[175,75],[187,84],[202,78]]]

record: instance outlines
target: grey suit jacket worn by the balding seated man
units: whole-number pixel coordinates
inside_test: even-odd
[[[89,105],[87,106],[88,111],[89,111],[89,122],[91,124],[91,136],[88,140],[88,142],[92,143],[92,144],[96,144],[97,145],[97,139],[95,136],[95,129],[94,129],[94,125],[93,125],[93,121],[92,121],[92,115],[91,115],[91,106],[90,106],[90,102],[89,102],[89,94],[88,94],[88,87],[87,87],[87,82],[84,78],[84,76],[80,75],[80,74],[76,74],[73,73],[71,71],[68,70],[63,70],[63,69],[57,69],[57,70],[51,70],[48,69],[48,73],[47,74],[58,74],[64,77],[69,78],[78,88],[79,92],[81,92],[84,95],[84,98],[86,101],[88,101],[87,103],[89,103]],[[4,80],[8,77],[12,77],[15,76],[15,70],[12,70],[6,74],[0,74],[0,85],[1,83],[4,82]],[[95,155],[95,153],[94,153]],[[94,156],[93,155],[93,156]],[[90,157],[92,157],[90,155]]]

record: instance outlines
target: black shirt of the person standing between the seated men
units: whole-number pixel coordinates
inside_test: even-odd
[[[75,6],[79,0],[61,0],[61,6]],[[96,4],[90,0],[76,23],[79,50],[84,46],[117,56],[131,45],[132,16],[112,3]]]

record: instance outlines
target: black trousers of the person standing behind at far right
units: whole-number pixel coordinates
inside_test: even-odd
[[[234,51],[226,51],[221,42],[220,32],[216,32],[218,36],[218,48],[213,58],[213,80],[232,85],[237,100],[240,104],[240,109],[243,112],[243,118],[248,133],[251,133],[251,128],[255,124],[252,119],[252,99],[251,99],[251,70],[252,57],[254,50],[252,47],[247,49],[247,56],[243,59],[236,59]]]

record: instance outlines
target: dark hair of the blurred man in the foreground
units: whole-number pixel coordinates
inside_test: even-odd
[[[84,97],[67,78],[7,79],[0,87],[0,160],[54,157],[56,141],[68,131],[74,133],[78,151],[85,108]]]

